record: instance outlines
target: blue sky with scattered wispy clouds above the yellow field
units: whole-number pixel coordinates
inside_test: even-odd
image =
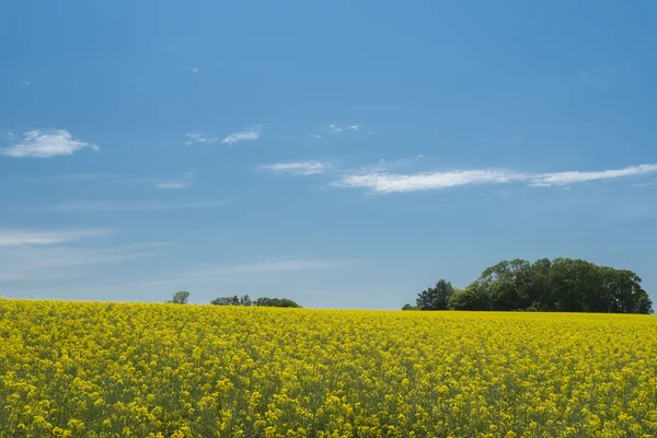
[[[657,4],[0,3],[0,295],[396,309],[502,260],[657,299]]]

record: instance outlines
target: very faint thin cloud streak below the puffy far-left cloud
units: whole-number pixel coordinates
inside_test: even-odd
[[[175,208],[208,208],[220,207],[231,199],[203,200],[196,203],[163,203],[163,201],[127,201],[127,200],[72,200],[60,204],[38,206],[38,207],[14,207],[12,211],[51,211],[51,212],[72,212],[72,211],[143,211],[143,210],[166,210]]]

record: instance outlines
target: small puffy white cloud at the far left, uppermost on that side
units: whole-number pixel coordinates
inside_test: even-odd
[[[15,158],[71,155],[80,149],[100,150],[96,145],[76,139],[65,129],[35,129],[23,134],[21,142],[0,148],[0,154]]]

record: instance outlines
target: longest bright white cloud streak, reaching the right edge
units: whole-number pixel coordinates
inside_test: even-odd
[[[369,188],[371,193],[388,194],[440,189],[463,185],[526,183],[530,187],[563,187],[577,183],[612,180],[657,173],[657,164],[641,164],[619,170],[597,172],[519,173],[505,170],[454,170],[394,174],[388,172],[347,173],[331,183],[334,187]]]

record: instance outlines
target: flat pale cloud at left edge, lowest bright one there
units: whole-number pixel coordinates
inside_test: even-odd
[[[80,239],[101,237],[115,233],[110,229],[80,230],[25,230],[0,229],[0,246],[20,245],[53,245],[72,242]]]

